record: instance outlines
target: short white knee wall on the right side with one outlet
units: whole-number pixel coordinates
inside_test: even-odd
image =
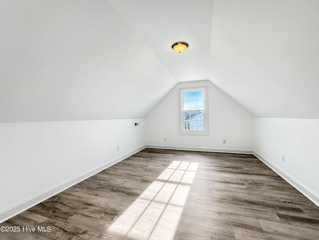
[[[319,206],[318,147],[319,119],[254,119],[254,151]]]

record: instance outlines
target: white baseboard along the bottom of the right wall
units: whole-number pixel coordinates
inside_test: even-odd
[[[305,195],[310,201],[319,207],[319,196],[299,182],[297,179],[292,177],[290,174],[282,170],[276,164],[272,163],[270,160],[262,156],[260,153],[254,151],[253,153],[260,161],[270,167],[274,172],[276,172],[280,177],[282,177],[286,182],[292,185],[295,189]]]

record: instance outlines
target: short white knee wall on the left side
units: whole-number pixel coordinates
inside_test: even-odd
[[[0,123],[0,222],[144,146],[145,119]]]

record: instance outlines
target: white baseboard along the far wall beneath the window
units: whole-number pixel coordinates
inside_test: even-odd
[[[168,146],[148,144],[147,148],[156,149],[170,149],[170,150],[185,150],[185,151],[198,151],[198,152],[216,152],[216,153],[240,153],[240,154],[254,154],[251,149],[232,149],[232,148],[199,148],[190,146]]]

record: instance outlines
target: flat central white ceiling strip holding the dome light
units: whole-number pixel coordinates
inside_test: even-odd
[[[212,0],[110,2],[178,82],[208,79]],[[182,54],[171,49],[178,41],[189,44]]]

